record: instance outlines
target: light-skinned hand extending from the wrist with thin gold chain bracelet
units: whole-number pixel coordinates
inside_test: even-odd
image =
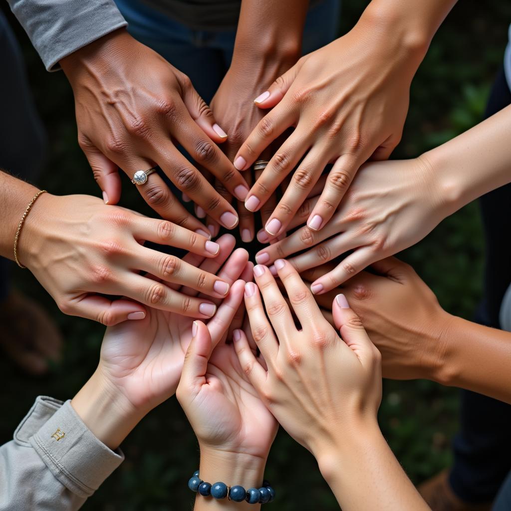
[[[213,316],[211,299],[185,295],[168,284],[187,285],[220,298],[227,294],[228,282],[144,247],[145,241],[188,249],[201,258],[213,258],[220,250],[218,243],[167,220],[108,206],[96,197],[42,194],[23,226],[18,251],[21,262],[65,314],[113,325],[143,318],[144,304],[187,316]],[[112,301],[104,295],[125,298]]]

